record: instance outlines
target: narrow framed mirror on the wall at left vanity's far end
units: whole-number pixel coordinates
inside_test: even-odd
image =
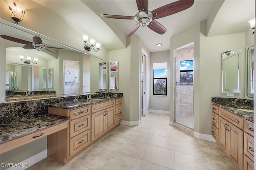
[[[109,88],[112,91],[118,89],[118,61],[109,62]]]

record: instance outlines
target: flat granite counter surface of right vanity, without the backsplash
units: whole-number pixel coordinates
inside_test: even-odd
[[[252,121],[252,122],[254,121],[253,112],[238,110],[238,109],[253,110],[253,106],[248,106],[246,104],[233,104],[228,102],[212,102],[212,104],[219,106],[223,109],[226,109],[236,115],[240,115],[249,121]]]

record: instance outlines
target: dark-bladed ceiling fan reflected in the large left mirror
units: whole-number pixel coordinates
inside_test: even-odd
[[[30,49],[36,49],[37,51],[41,51],[42,49],[46,49],[46,48],[53,48],[53,49],[62,49],[62,48],[57,48],[57,47],[49,47],[49,46],[45,46],[42,44],[42,39],[40,37],[33,37],[33,42],[30,41],[26,41],[23,39],[18,39],[15,37],[10,37],[8,35],[0,35],[3,39],[7,39],[9,41],[14,41],[16,43],[21,43],[21,44],[26,44],[24,46],[22,46],[22,48],[30,50]],[[46,49],[47,51],[50,51],[48,49]],[[50,51],[52,53],[54,53],[53,51]]]

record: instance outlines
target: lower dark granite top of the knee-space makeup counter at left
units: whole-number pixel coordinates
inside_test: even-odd
[[[0,142],[26,135],[45,127],[56,125],[68,120],[68,117],[63,117],[53,114],[37,115],[35,117],[26,117],[18,121],[10,121],[0,124]]]

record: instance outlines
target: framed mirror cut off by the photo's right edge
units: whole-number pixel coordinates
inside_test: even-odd
[[[253,75],[254,75],[254,45],[247,47],[246,49],[246,94],[249,98],[253,98]]]

